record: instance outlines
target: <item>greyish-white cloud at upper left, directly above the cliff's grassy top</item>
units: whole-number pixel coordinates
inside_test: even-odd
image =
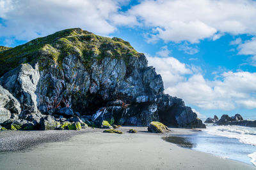
[[[116,15],[124,0],[0,0],[0,37],[30,40],[61,29],[81,27],[97,34],[116,30],[109,18]],[[132,20],[132,18],[131,18]]]

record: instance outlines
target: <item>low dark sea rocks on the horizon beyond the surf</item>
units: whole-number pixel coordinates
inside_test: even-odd
[[[247,127],[256,127],[256,120],[244,120],[239,114],[234,117],[229,117],[228,115],[222,115],[220,120],[214,115],[214,118],[207,118],[204,122],[205,124],[218,124],[218,125],[241,125]]]

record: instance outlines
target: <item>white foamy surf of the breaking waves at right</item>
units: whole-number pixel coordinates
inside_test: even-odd
[[[223,136],[227,138],[239,139],[241,143],[256,146],[256,127],[242,127],[237,125],[207,125],[205,131],[209,134]],[[256,152],[252,150],[248,157],[252,158],[251,162],[256,166]]]

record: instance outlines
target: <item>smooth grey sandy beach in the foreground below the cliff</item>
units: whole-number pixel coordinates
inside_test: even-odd
[[[127,133],[130,128],[120,128],[124,134],[107,134],[102,133],[102,129],[90,128],[80,132],[0,132],[0,148],[18,134],[26,136],[26,133],[26,138],[20,140],[28,145],[19,148],[13,144],[15,152],[3,152],[1,148],[0,169],[256,169],[249,164],[180,148],[161,139],[163,134],[148,133],[147,127],[136,127],[139,131],[136,134]],[[170,134],[193,132],[196,131],[173,129]],[[50,142],[45,143],[47,139],[42,137],[47,134],[42,135],[36,144],[26,142],[29,136],[40,136],[40,133],[47,133]],[[54,133],[63,133],[59,136],[66,137],[60,141],[49,138]]]

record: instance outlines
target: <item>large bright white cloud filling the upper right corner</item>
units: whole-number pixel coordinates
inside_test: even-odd
[[[198,43],[224,33],[256,34],[256,2],[252,0],[145,0],[126,15],[152,27],[154,41]]]

